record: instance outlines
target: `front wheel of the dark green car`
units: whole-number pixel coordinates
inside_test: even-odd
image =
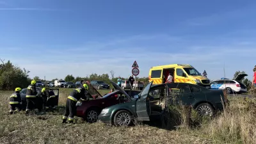
[[[116,126],[129,126],[132,122],[132,116],[129,111],[121,110],[118,111],[114,117],[114,124]]]

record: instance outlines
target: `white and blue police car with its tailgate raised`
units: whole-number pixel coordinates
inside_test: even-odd
[[[241,79],[248,76],[247,74],[238,74],[236,79],[221,78],[219,80],[212,81],[211,89],[227,90],[228,94],[231,93],[246,93],[246,86],[241,83]]]

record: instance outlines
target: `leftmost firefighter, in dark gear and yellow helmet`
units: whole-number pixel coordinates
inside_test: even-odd
[[[9,102],[10,108],[11,108],[10,115],[12,115],[14,111],[20,111],[21,109],[20,91],[21,91],[21,88],[15,88],[15,92],[12,93],[10,97],[10,102]]]

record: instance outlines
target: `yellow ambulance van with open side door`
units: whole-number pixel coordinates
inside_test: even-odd
[[[204,77],[194,67],[188,64],[172,64],[151,67],[149,70],[149,81],[153,84],[161,84],[166,81],[169,73],[173,76],[173,83],[191,83],[211,88],[210,80]]]

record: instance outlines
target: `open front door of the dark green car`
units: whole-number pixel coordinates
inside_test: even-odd
[[[136,113],[138,116],[138,120],[140,121],[150,121],[149,116],[151,113],[150,109],[150,99],[148,97],[148,93],[152,86],[152,82],[150,82],[144,90],[139,94],[139,99],[136,102]]]

